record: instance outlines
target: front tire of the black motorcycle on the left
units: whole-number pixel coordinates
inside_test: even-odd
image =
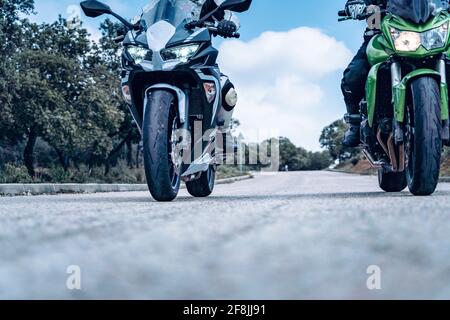
[[[143,121],[144,166],[147,185],[157,201],[172,201],[180,190],[180,172],[172,154],[174,129],[178,125],[175,98],[168,91],[148,97]]]

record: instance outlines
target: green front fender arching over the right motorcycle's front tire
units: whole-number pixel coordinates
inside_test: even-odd
[[[403,77],[402,81],[399,84],[392,87],[394,114],[395,119],[398,122],[403,122],[405,119],[405,105],[408,84],[411,82],[411,80],[423,76],[431,76],[433,78],[436,78],[436,80],[440,83],[442,120],[448,120],[449,114],[447,84],[445,82],[441,82],[441,75],[439,72],[432,69],[423,68],[410,72],[405,77]]]

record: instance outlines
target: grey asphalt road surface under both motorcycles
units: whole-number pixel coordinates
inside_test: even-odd
[[[185,191],[0,198],[0,298],[450,298],[450,184],[432,197],[376,178],[257,176]],[[68,290],[69,265],[81,290]],[[368,266],[381,290],[368,290]]]

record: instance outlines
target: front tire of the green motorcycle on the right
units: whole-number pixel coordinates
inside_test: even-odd
[[[442,121],[438,83],[431,77],[411,82],[411,106],[407,110],[406,177],[416,196],[436,191],[442,155]]]

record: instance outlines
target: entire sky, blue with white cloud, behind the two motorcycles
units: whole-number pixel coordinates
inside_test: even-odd
[[[120,15],[140,14],[148,0],[104,0]],[[249,140],[286,136],[320,150],[321,130],[345,113],[342,72],[362,43],[363,22],[337,22],[345,0],[253,0],[239,14],[241,38],[217,40],[219,64],[239,94],[235,117]],[[36,22],[78,10],[78,1],[35,0]],[[104,18],[82,15],[98,38]]]

